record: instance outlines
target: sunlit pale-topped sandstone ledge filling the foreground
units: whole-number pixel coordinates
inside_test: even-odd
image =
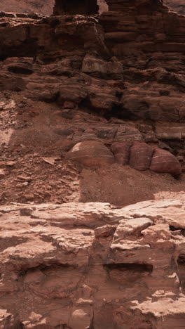
[[[182,202],[0,211],[1,328],[183,328]]]

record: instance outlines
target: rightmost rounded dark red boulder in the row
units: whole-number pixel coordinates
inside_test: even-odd
[[[166,172],[173,176],[178,176],[181,173],[181,165],[172,153],[167,150],[157,148],[151,159],[150,169],[153,172]]]

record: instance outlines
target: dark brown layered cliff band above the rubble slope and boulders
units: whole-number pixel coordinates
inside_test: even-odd
[[[109,12],[100,20],[88,15],[34,20],[4,14],[0,89],[55,102],[62,115],[71,111],[73,117],[73,110],[88,109],[108,122],[118,117],[124,127],[135,120],[139,139],[170,150],[184,166],[185,19],[160,1],[152,7],[151,1],[107,4]],[[80,126],[74,136],[87,129]],[[134,142],[135,131],[126,129]],[[125,140],[118,134],[112,142]]]

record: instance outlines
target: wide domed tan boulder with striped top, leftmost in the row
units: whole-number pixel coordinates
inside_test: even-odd
[[[67,158],[88,167],[100,167],[114,162],[114,155],[100,141],[77,143],[67,153]]]

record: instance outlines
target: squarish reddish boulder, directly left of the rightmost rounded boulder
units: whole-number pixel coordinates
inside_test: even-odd
[[[130,167],[147,170],[150,167],[153,148],[146,143],[135,142],[130,149]]]

